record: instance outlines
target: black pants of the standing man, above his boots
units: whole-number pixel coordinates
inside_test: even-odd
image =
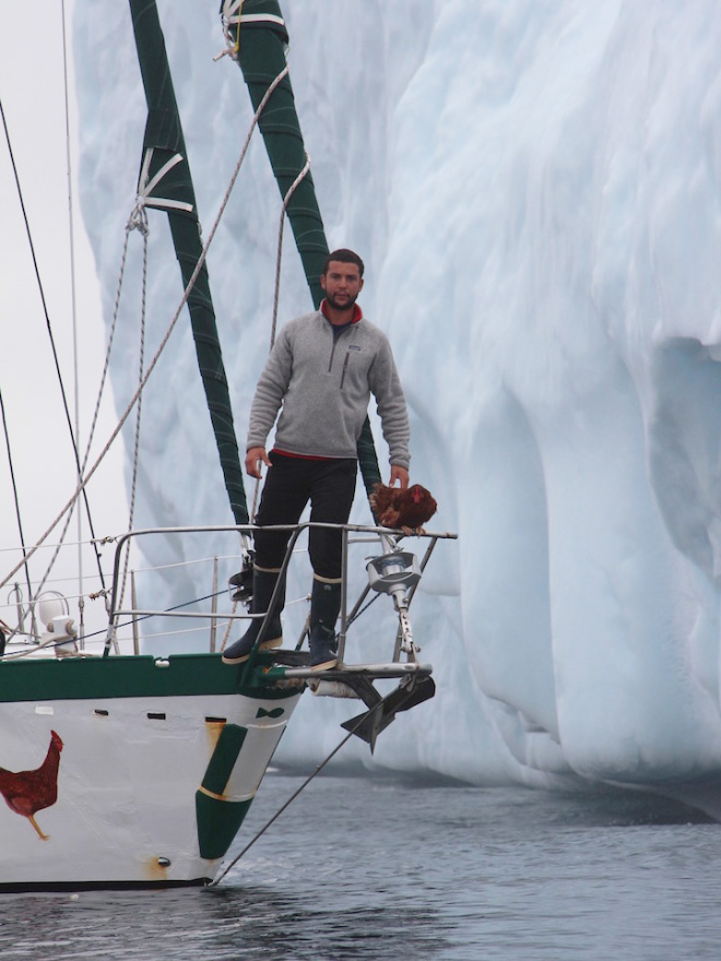
[[[353,506],[358,462],[355,458],[314,461],[271,452],[256,523],[297,524],[310,501],[310,520],[345,524]],[[277,569],[283,563],[289,532],[257,531],[256,565]],[[311,527],[308,553],[314,571],[321,578],[341,577],[342,537],[340,531]]]

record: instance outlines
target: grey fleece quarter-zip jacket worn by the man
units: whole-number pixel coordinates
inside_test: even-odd
[[[275,449],[355,458],[370,394],[376,398],[390,463],[409,467],[409,417],[386,334],[365,318],[338,336],[319,310],[282,328],[250,408],[247,449],[265,447],[281,416]]]

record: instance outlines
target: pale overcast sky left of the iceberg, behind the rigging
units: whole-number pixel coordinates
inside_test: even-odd
[[[0,4],[0,98],[9,128],[26,214],[68,401],[75,422],[73,310],[70,270],[69,178],[62,13],[71,39],[72,0],[36,0],[20,10]],[[75,96],[70,72],[71,167],[76,169]],[[73,186],[75,321],[81,448],[90,429],[105,355],[105,332],[93,258]],[[27,545],[45,532],[75,487],[72,451],[62,414],[55,365],[29,244],[0,124],[0,390],[5,407],[21,513]],[[96,431],[99,451],[116,425],[108,394]],[[91,462],[94,459],[92,458]],[[108,462],[88,486],[98,536],[127,529],[122,451],[116,442]],[[20,543],[4,436],[0,431],[0,581],[14,566]],[[58,531],[60,527],[57,529]],[[49,542],[55,541],[55,534]],[[83,529],[87,536],[87,526]],[[69,539],[78,539],[73,520]],[[111,549],[106,548],[106,567]],[[86,567],[86,572],[93,572]],[[8,586],[0,589],[0,617],[8,619]],[[4,612],[4,613],[3,613]]]

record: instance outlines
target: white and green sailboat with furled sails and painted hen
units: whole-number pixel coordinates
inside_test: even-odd
[[[344,581],[336,668],[322,675],[312,672],[304,636],[293,649],[256,651],[240,665],[221,660],[228,633],[250,616],[244,603],[249,600],[253,527],[204,265],[210,240],[204,246],[200,236],[159,19],[154,0],[130,0],[130,9],[149,109],[138,215],[159,210],[169,222],[184,289],[173,323],[187,304],[234,523],[130,527],[109,538],[113,550],[103,550],[113,557],[107,572],[97,550],[101,538],[93,534],[98,568],[108,579],[99,592],[107,606],[103,631],[85,625],[87,591],[70,598],[51,589],[51,566],[39,578],[31,573],[40,542],[23,544],[21,559],[0,579],[9,591],[9,603],[0,608],[3,889],[209,883],[223,870],[294,709],[309,688],[319,696],[359,701],[359,713],[343,726],[371,750],[398,713],[435,691],[433,668],[418,657],[409,608],[436,545],[454,536],[446,532],[424,532],[424,554],[418,559],[404,549],[401,531],[375,522],[342,526]],[[223,26],[247,80],[317,305],[328,246],[287,76],[282,12],[275,0],[227,2]],[[151,372],[149,365],[134,404]],[[368,423],[358,456],[370,490],[380,472]],[[76,462],[79,482],[69,505],[86,496],[95,467],[79,454]],[[67,513],[61,512],[43,539]],[[293,529],[284,572],[308,526]],[[131,550],[140,545],[141,556],[152,557],[146,545],[154,538],[165,545],[182,542],[178,569],[181,560],[199,562],[193,554],[197,546],[211,574],[202,598],[188,597],[172,609],[137,603],[135,580],[129,572]],[[229,545],[227,553],[206,557],[204,547],[220,542]],[[367,580],[352,603],[348,570],[358,551]],[[223,571],[229,590],[220,588]],[[181,583],[192,580],[177,577]],[[21,583],[26,584],[25,594]],[[361,619],[368,598],[382,596],[390,598],[397,615],[388,660],[346,663],[348,630]],[[200,633],[200,650],[159,656],[145,652],[139,626],[156,621],[170,624],[169,630]],[[390,692],[381,693],[378,680],[393,681]]]

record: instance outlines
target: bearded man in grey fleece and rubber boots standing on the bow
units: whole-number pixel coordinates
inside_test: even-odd
[[[252,406],[246,471],[260,478],[269,468],[258,509],[258,526],[297,524],[310,501],[310,520],[347,523],[355,494],[357,441],[370,394],[376,398],[390,451],[390,486],[409,485],[409,418],[403,389],[388,339],[366,320],[356,304],[363,289],[363,261],[352,250],[328,256],[320,276],[326,298],[320,310],[287,323],[271,351]],[[265,439],[279,411],[270,454]],[[268,610],[289,534],[257,531],[251,613]],[[323,671],[338,663],[335,620],[341,607],[340,531],[310,527],[308,551],[314,569],[310,600],[310,665]],[[246,661],[282,643],[281,586],[268,628],[255,618],[246,633],[223,654],[226,664]]]

